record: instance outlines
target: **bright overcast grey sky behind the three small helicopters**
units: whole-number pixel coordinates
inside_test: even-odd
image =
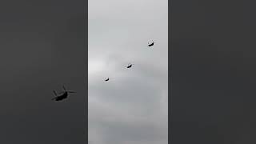
[[[90,144],[167,143],[167,4],[89,1]]]

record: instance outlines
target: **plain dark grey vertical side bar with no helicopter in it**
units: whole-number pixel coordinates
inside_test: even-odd
[[[255,143],[255,1],[171,0],[170,143]]]

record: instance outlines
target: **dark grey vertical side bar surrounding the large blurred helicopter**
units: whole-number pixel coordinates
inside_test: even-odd
[[[0,143],[87,143],[88,2],[0,2]],[[54,102],[62,85],[70,94]]]

